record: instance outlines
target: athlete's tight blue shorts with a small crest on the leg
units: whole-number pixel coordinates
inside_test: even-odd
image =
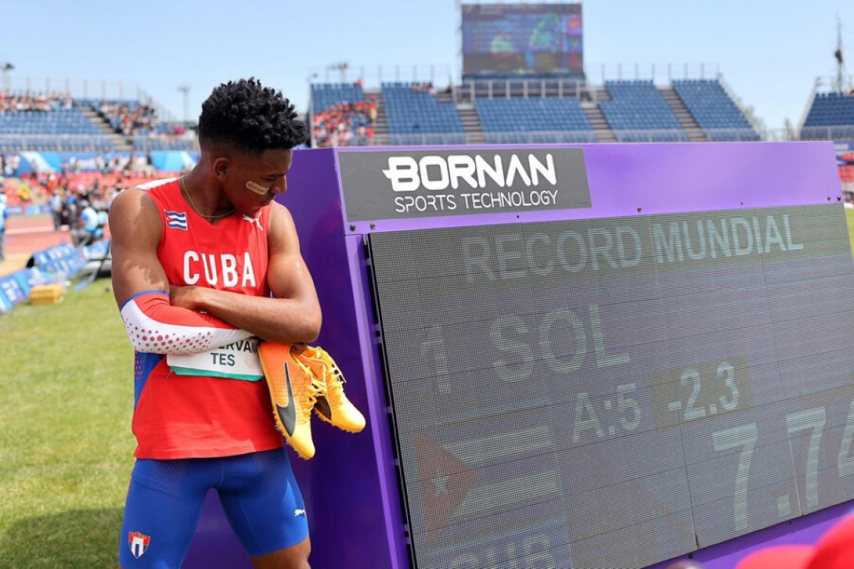
[[[250,557],[308,537],[305,504],[284,448],[221,458],[137,459],[121,525],[120,566],[181,566],[210,488],[219,493]]]

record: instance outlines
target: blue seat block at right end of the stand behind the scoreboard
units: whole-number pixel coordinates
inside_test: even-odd
[[[709,140],[759,140],[759,135],[717,79],[675,79],[673,89]]]

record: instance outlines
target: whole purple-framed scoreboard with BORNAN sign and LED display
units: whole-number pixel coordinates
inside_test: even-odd
[[[854,505],[832,143],[312,149],[289,187],[367,418],[291,461],[313,566],[724,569]],[[187,566],[250,566],[215,500]]]

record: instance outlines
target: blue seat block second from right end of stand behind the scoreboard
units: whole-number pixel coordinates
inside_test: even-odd
[[[652,81],[605,81],[605,89],[611,101],[599,104],[618,141],[688,140],[687,133]]]

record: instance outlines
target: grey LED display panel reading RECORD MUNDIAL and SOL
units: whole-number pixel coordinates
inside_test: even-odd
[[[854,497],[841,205],[369,241],[419,569],[647,566]]]

